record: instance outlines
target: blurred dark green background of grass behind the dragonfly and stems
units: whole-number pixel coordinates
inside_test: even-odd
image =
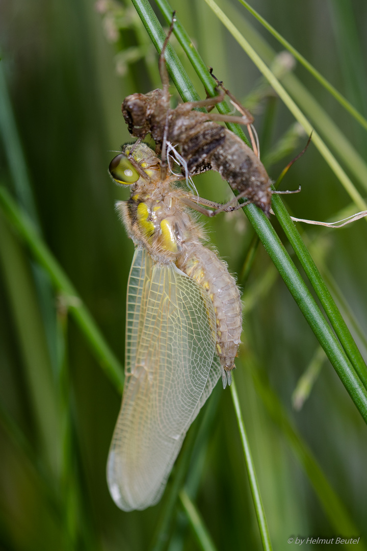
[[[244,33],[250,23],[282,51],[238,2],[220,5]],[[363,0],[261,0],[253,6],[367,115]],[[205,2],[176,0],[172,7],[205,63],[253,112],[262,159],[275,180],[307,137]],[[107,167],[129,141],[123,98],[161,86],[158,57],[129,0],[13,0],[0,6],[0,32],[1,184],[38,221],[123,363],[133,244],[114,211],[116,199],[128,192],[113,185]],[[172,45],[204,98],[174,37]],[[291,77],[365,158],[367,141],[357,122],[305,69],[296,66]],[[316,126],[316,111],[314,116]],[[289,148],[282,146],[284,136]],[[342,163],[365,196],[363,171],[358,179]],[[202,197],[230,196],[216,174],[195,183]],[[312,142],[282,188],[299,185],[301,193],[286,197],[298,217],[334,220],[346,207],[359,210]],[[341,536],[360,537],[353,548],[365,549],[365,423],[261,245],[250,272],[241,276],[254,237],[243,212],[204,222],[244,291],[235,381],[273,548],[291,549],[289,537]],[[300,231],[365,355],[365,220],[341,230]],[[149,549],[165,498],[146,511],[124,513],[107,489],[120,396],[68,317],[65,297],[53,292],[1,210],[0,251],[0,549]],[[304,374],[308,390],[300,384]],[[212,398],[198,418],[198,428],[206,420],[205,445],[195,447],[189,488],[197,489],[194,501],[218,550],[261,549],[231,395],[218,387]],[[180,507],[171,511],[161,548],[201,549]]]

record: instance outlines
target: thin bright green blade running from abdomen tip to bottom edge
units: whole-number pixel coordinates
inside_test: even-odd
[[[259,484],[258,484],[258,480],[256,479],[255,467],[254,467],[253,459],[252,459],[252,456],[251,456],[250,445],[249,445],[249,441],[248,441],[247,434],[246,434],[246,431],[245,431],[245,425],[244,425],[243,418],[242,418],[242,412],[241,412],[241,409],[240,409],[240,406],[239,406],[237,388],[235,386],[234,380],[232,381],[232,385],[231,385],[231,394],[232,394],[235,414],[236,414],[236,417],[237,417],[239,434],[240,434],[241,441],[242,441],[243,454],[244,454],[247,473],[248,473],[248,477],[249,477],[251,494],[252,494],[253,500],[254,500],[256,518],[258,519],[258,524],[259,524],[259,528],[260,528],[262,548],[265,551],[271,551],[272,547],[271,547],[271,542],[270,542],[269,529],[267,527],[264,507],[262,506]]]

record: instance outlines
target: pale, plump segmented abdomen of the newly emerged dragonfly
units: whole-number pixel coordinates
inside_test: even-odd
[[[217,353],[224,371],[223,386],[231,383],[231,370],[242,332],[242,306],[234,278],[216,253],[201,244],[189,243],[176,265],[195,279],[210,295],[217,323]]]

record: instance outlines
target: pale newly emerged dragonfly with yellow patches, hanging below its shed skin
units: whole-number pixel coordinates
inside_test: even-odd
[[[161,180],[146,144],[125,145],[109,165],[131,185],[117,210],[135,244],[127,300],[125,387],[107,478],[124,511],[160,500],[189,426],[231,370],[242,331],[240,295],[226,264],[202,244],[190,194]],[[131,158],[131,156],[130,156]],[[136,166],[139,170],[136,170]],[[144,174],[144,177],[141,175]]]

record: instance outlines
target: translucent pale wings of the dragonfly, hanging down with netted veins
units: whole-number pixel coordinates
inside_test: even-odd
[[[220,377],[215,331],[206,291],[136,249],[124,395],[107,465],[120,509],[145,509],[161,498],[184,436]]]

